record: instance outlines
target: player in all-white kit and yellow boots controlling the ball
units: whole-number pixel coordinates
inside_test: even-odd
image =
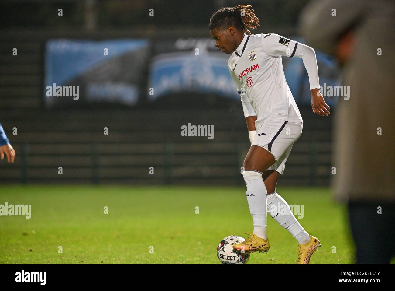
[[[293,143],[302,133],[303,120],[285,80],[281,56],[299,57],[308,72],[312,111],[328,116],[330,107],[318,91],[318,67],[314,49],[278,34],[251,34],[259,19],[251,5],[216,11],[209,24],[218,50],[227,55],[229,72],[241,94],[251,147],[243,163],[246,197],[254,231],[245,242],[233,245],[247,252],[269,251],[266,213],[298,242],[298,264],[308,264],[321,246],[296,220],[287,202],[276,192],[279,175]],[[278,206],[280,207],[278,208]],[[283,211],[282,209],[287,209]],[[285,213],[284,213],[285,212]]]

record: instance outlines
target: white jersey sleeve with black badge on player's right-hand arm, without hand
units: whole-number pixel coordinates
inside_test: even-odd
[[[313,48],[284,38],[278,34],[267,34],[262,37],[262,46],[265,52],[272,57],[300,57],[307,70],[308,80],[311,89],[320,89],[320,80],[318,79],[318,66],[316,52]]]

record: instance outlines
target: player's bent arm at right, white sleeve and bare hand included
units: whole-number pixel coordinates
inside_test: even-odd
[[[328,116],[331,107],[324,101],[321,95],[320,81],[318,79],[318,66],[316,52],[313,48],[297,41],[284,38],[278,34],[269,34],[262,37],[263,49],[272,57],[299,57],[307,70],[308,80],[310,82],[311,108],[314,113],[320,116]]]

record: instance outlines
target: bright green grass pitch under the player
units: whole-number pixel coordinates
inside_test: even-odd
[[[297,219],[321,241],[312,264],[354,262],[346,207],[328,188],[277,192],[303,204]],[[245,186],[0,186],[5,202],[32,204],[32,217],[0,216],[0,263],[218,264],[222,238],[253,230]],[[269,252],[252,253],[248,264],[296,262],[296,240],[270,215],[267,235]]]

